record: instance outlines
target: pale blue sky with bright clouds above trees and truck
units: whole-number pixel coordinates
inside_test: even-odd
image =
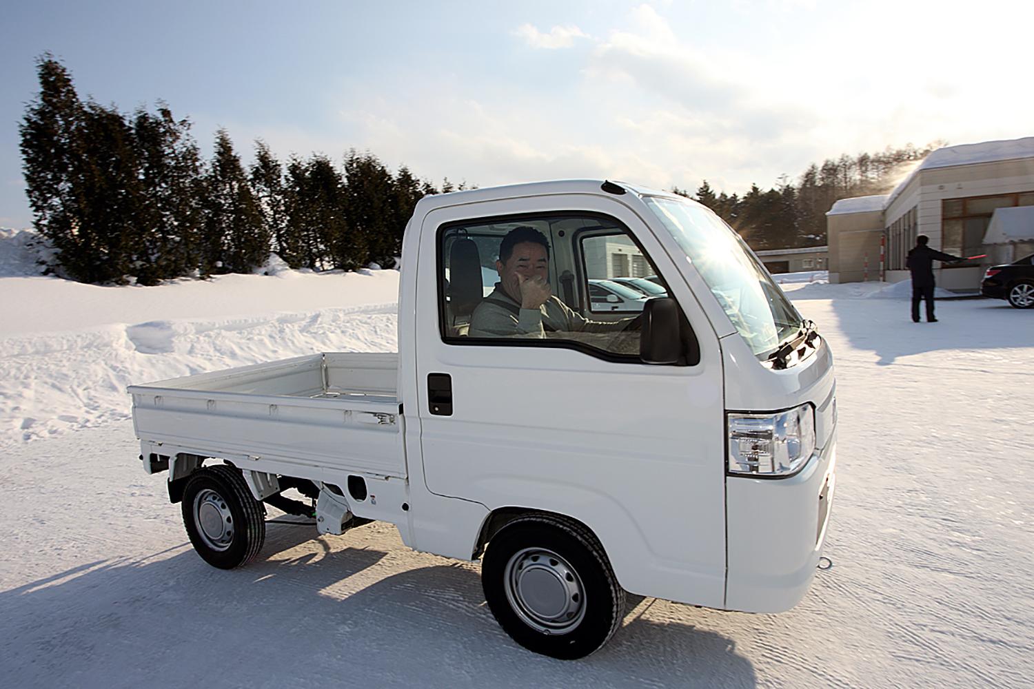
[[[843,153],[1034,134],[1029,2],[5,3],[0,226],[52,53],[81,97],[165,101],[210,155],[369,151],[440,186],[609,178],[728,193]]]

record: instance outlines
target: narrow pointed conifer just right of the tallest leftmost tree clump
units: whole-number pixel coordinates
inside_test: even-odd
[[[205,179],[201,273],[247,273],[269,258],[269,234],[230,134],[216,132]]]

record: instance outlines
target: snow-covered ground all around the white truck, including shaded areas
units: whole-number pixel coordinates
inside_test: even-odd
[[[783,615],[639,600],[608,646],[562,662],[498,628],[477,563],[413,553],[389,526],[312,538],[271,524],[255,563],[213,569],[190,549],[164,477],[136,460],[126,384],[394,349],[397,273],[100,288],[4,260],[4,686],[1020,687],[1034,677],[1034,312],[940,302],[940,322],[912,323],[887,285],[785,285],[835,354],[834,566]]]

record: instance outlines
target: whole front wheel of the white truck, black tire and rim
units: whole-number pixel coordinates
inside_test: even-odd
[[[488,606],[510,636],[536,653],[583,658],[617,631],[625,590],[584,526],[550,514],[507,524],[481,568]]]

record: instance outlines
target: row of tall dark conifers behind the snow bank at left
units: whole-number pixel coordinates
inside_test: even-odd
[[[355,150],[341,164],[281,162],[260,140],[245,166],[225,130],[204,160],[190,122],[166,105],[126,115],[81,99],[50,55],[37,71],[40,91],[20,127],[27,193],[57,270],[75,280],[247,273],[270,252],[292,268],[392,268],[414,206],[438,191]],[[443,191],[452,189],[446,180]]]

